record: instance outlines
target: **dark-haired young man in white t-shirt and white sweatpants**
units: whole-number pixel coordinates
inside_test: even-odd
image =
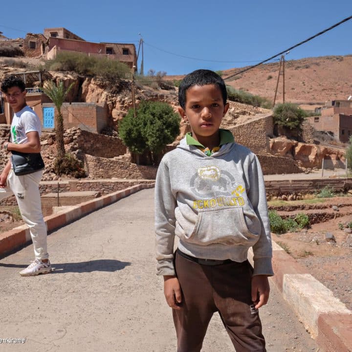
[[[1,91],[14,111],[10,132],[11,143],[3,143],[2,149],[5,152],[40,153],[41,122],[36,113],[26,104],[23,81],[14,75],[8,76],[1,83]],[[46,225],[39,192],[42,176],[43,170],[16,176],[12,170],[11,158],[0,175],[0,188],[5,188],[8,182],[33,241],[35,260],[20,271],[21,276],[35,276],[51,271],[49,255],[46,251]]]

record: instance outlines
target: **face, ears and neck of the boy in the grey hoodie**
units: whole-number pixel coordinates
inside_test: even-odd
[[[184,121],[191,125],[192,136],[204,147],[216,147],[219,128],[229,104],[223,104],[220,89],[215,85],[192,86],[186,91],[185,109],[178,108]]]

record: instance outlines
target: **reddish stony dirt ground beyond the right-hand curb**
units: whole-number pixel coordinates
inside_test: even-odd
[[[347,205],[351,202],[351,197],[326,199],[320,205],[328,208],[315,211],[334,212],[331,207],[335,205],[339,209],[335,211],[335,219],[312,224],[298,232],[272,234],[272,238],[352,310],[352,234],[348,227],[352,222],[352,206]]]

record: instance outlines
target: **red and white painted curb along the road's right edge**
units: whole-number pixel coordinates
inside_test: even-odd
[[[272,280],[324,352],[352,352],[352,311],[273,242]]]

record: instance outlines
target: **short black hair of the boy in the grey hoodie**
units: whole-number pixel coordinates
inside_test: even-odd
[[[181,81],[178,88],[178,104],[182,109],[186,105],[186,92],[192,86],[205,86],[205,85],[215,85],[217,86],[222,95],[223,103],[226,104],[227,91],[226,85],[223,79],[214,71],[199,69],[189,73]]]

